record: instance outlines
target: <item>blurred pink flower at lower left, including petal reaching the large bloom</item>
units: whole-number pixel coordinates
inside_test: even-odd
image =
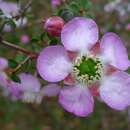
[[[41,88],[39,80],[27,73],[19,75],[21,83],[11,81],[8,89],[13,100],[22,100],[28,103],[41,103],[44,96],[56,96],[60,87],[49,84]]]

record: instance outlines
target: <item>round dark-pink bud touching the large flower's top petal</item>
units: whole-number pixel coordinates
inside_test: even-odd
[[[52,36],[60,36],[64,26],[64,20],[61,17],[53,16],[46,20],[44,28]]]

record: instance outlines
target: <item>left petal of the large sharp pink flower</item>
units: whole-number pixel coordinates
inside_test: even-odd
[[[50,82],[63,80],[71,71],[71,67],[67,52],[60,45],[43,49],[37,60],[39,74]]]

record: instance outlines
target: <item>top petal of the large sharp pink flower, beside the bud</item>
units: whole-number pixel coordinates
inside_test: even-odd
[[[61,40],[69,51],[87,51],[98,41],[98,27],[90,18],[76,17],[62,29]]]

